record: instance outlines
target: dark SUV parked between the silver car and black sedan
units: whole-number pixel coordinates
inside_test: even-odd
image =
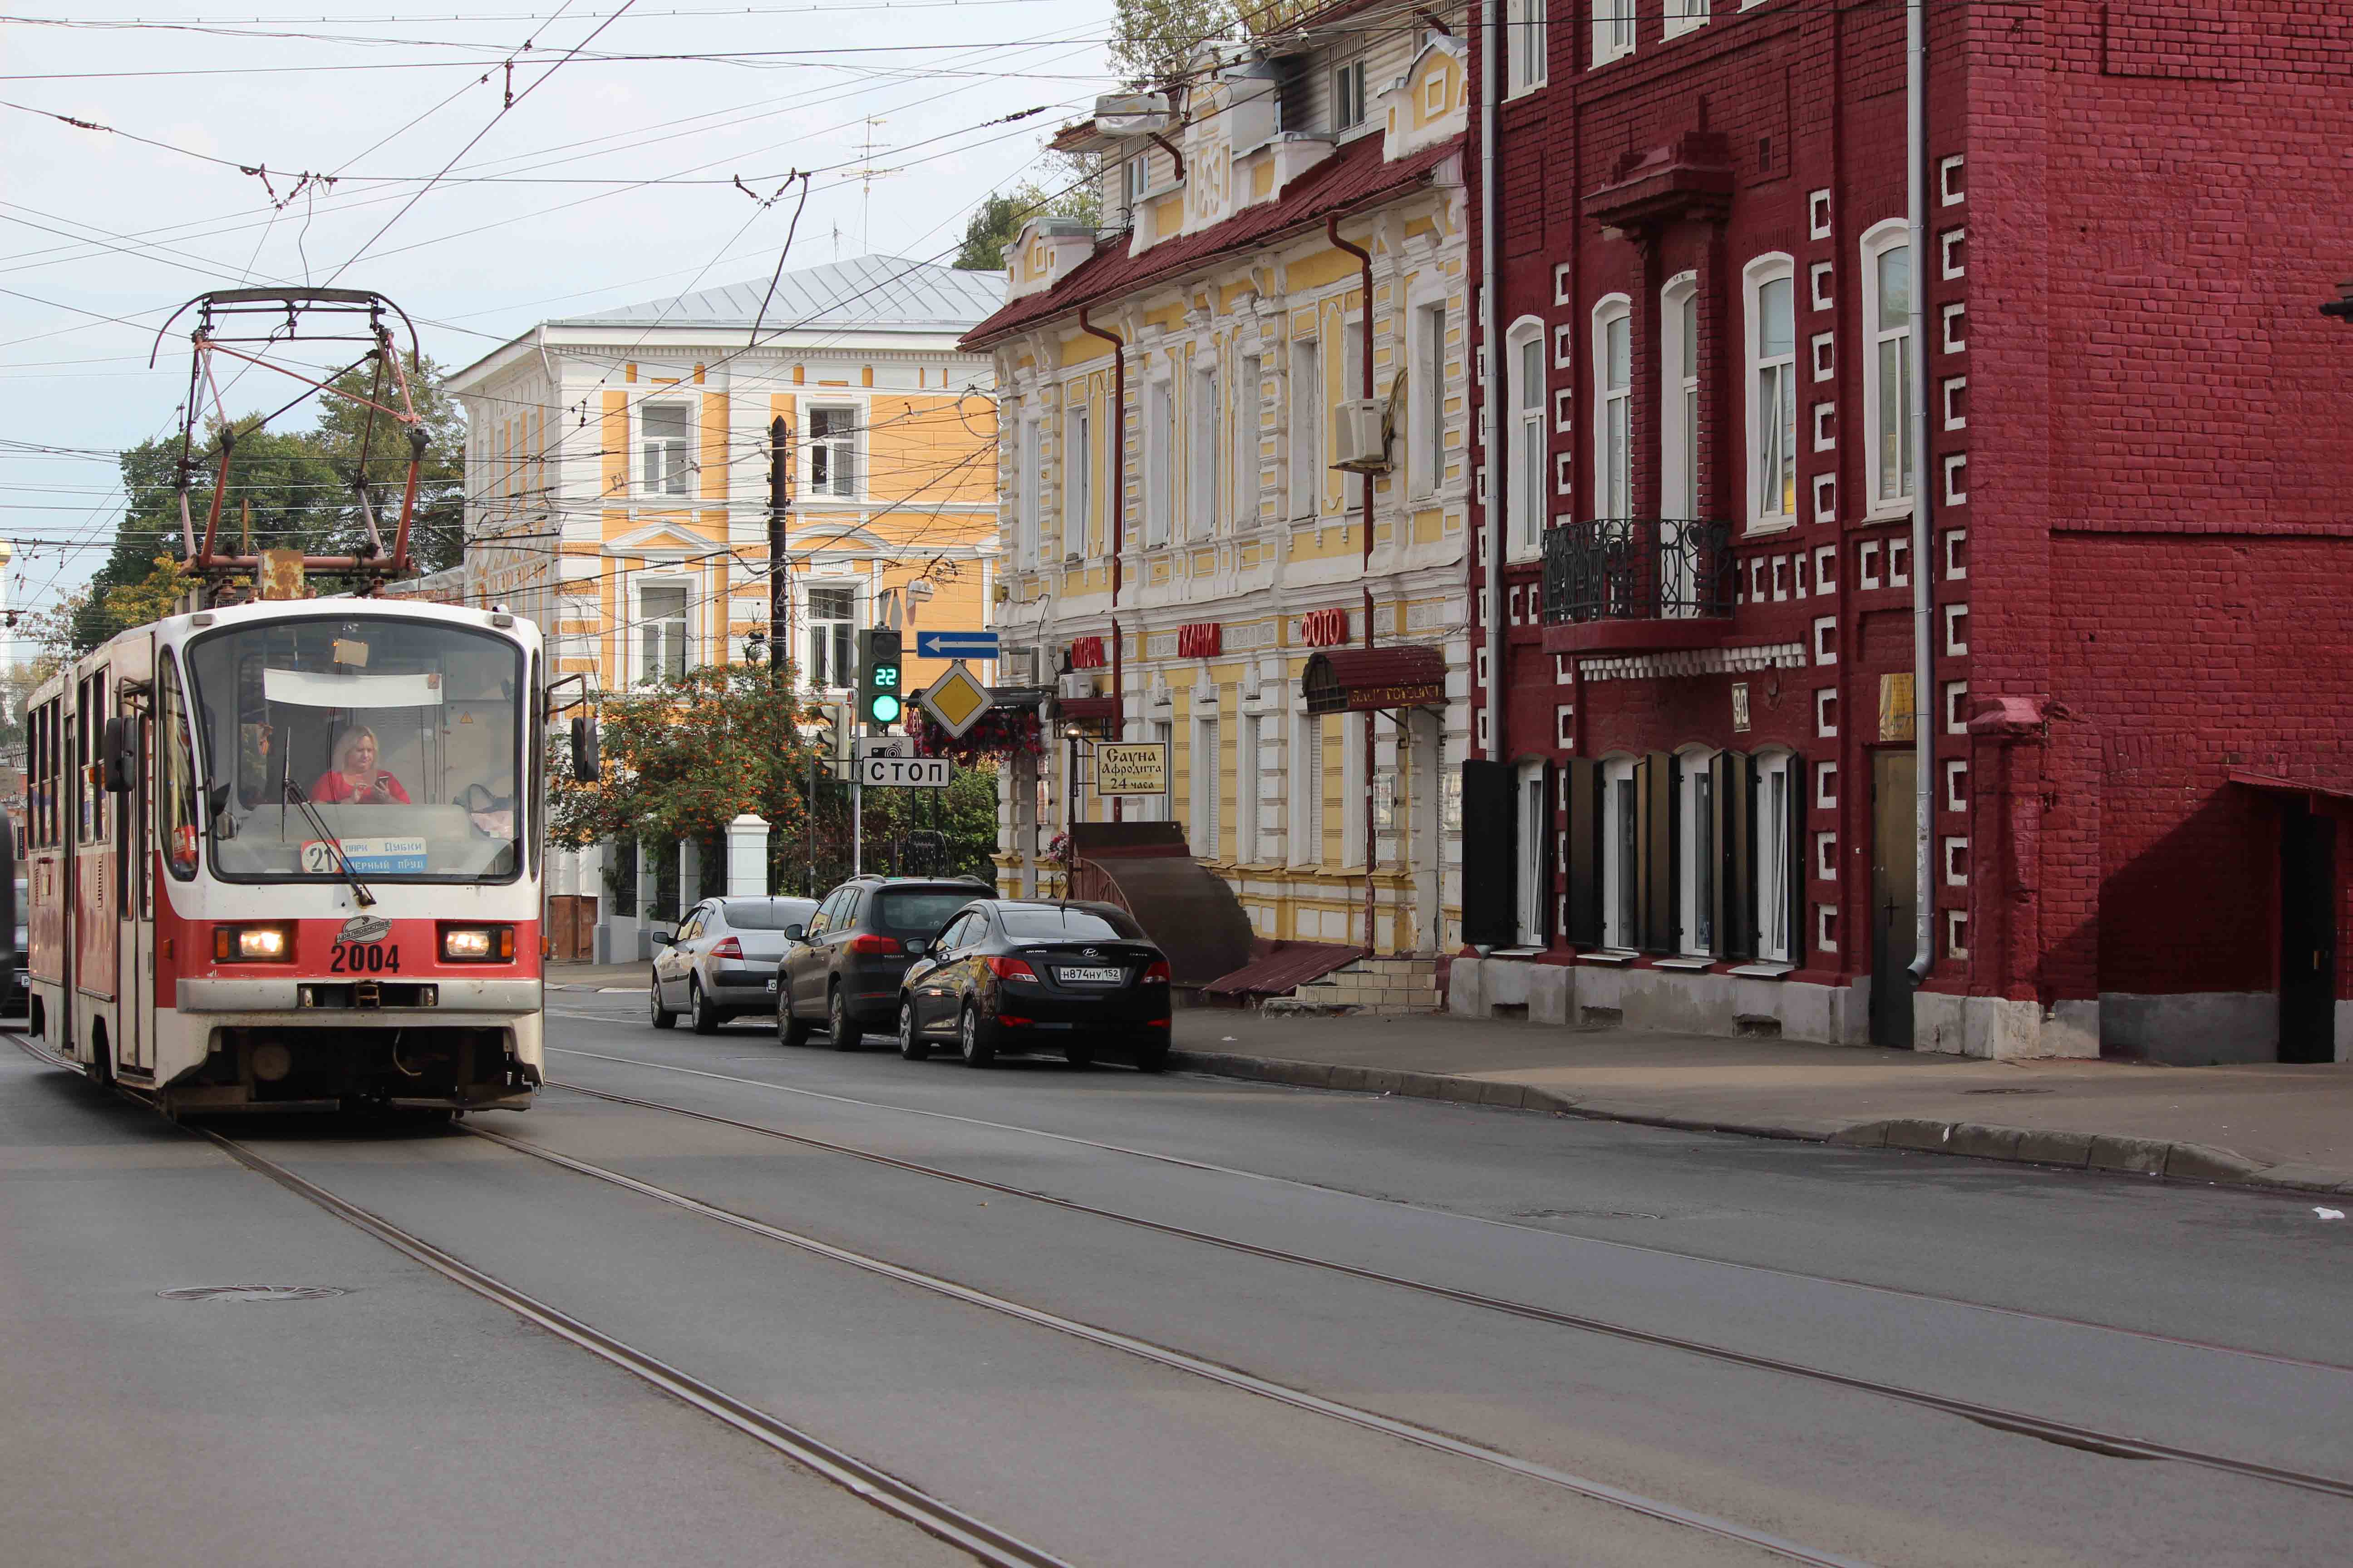
[[[899,980],[948,917],[988,886],[969,877],[852,877],[826,893],[807,929],[786,926],[776,966],[776,1039],[809,1044],[824,1020],[835,1051],[899,1020]]]

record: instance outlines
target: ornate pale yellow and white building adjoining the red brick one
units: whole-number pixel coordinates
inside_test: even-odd
[[[1184,823],[1261,938],[1459,943],[1459,31],[1447,7],[1327,7],[1056,139],[1101,160],[1108,228],[1033,221],[965,336],[1000,393],[998,625],[1061,693],[1042,778],[1009,790],[1012,884],[1122,811]],[[1384,703],[1367,646],[1433,682]],[[1339,684],[1311,703],[1318,654]],[[1165,741],[1169,788],[1106,802],[1096,738]]]

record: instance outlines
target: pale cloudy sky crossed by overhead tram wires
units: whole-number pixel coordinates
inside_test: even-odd
[[[186,324],[158,329],[195,294],[376,289],[456,369],[546,317],[765,280],[795,169],[791,266],[948,261],[1113,89],[1108,26],[1111,0],[47,0],[0,21],[7,602],[106,559],[113,454],[179,428]],[[226,404],[296,393],[247,371]]]

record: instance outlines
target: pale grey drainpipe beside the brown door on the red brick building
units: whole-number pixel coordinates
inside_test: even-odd
[[[1937,961],[1937,910],[1929,884],[1929,835],[1934,832],[1937,731],[1929,726],[1937,665],[1929,635],[1934,630],[1934,576],[1929,571],[1927,524],[1927,9],[1925,0],[1904,0],[1904,195],[1911,247],[1911,440],[1913,440],[1913,985],[1927,978]]]

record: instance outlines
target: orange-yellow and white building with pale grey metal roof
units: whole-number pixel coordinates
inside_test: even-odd
[[[988,355],[958,339],[998,294],[988,273],[859,256],[774,292],[762,277],[541,322],[449,383],[468,425],[466,595],[532,616],[553,675],[591,693],[746,658],[772,635],[784,418],[784,635],[802,686],[847,693],[856,630],[887,595],[911,632],[986,628],[995,402]],[[939,672],[908,661],[911,684]],[[600,870],[600,851],[565,856],[551,889],[595,898]],[[600,919],[600,957],[638,947],[631,922]]]

